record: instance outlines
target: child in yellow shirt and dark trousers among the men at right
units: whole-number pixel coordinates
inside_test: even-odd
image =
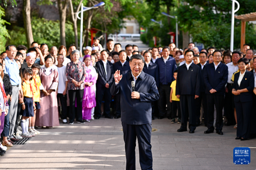
[[[175,117],[177,114],[177,109],[178,109],[178,123],[181,123],[181,112],[180,112],[180,99],[177,98],[176,96],[176,79],[177,79],[177,74],[178,70],[175,70],[173,73],[174,81],[172,81],[171,84],[171,93],[170,93],[170,102],[172,103],[172,121],[171,123],[175,123]]]

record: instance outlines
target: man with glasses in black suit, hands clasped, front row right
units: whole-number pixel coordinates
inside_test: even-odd
[[[206,98],[208,107],[207,127],[205,134],[214,132],[214,105],[216,108],[216,133],[222,135],[225,85],[228,81],[228,66],[221,63],[222,52],[215,50],[212,53],[213,63],[206,65],[204,83],[206,85]]]

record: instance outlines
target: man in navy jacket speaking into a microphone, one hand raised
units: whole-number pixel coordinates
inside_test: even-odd
[[[126,170],[135,170],[135,146],[138,138],[140,152],[140,167],[142,170],[152,170],[151,152],[151,102],[159,98],[154,77],[142,71],[144,57],[139,54],[130,58],[131,71],[120,75],[114,74],[115,82],[111,94],[121,95],[122,127],[124,132]],[[132,81],[135,81],[135,91],[132,92]]]

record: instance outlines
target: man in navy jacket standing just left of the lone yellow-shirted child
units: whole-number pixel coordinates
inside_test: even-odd
[[[159,107],[159,116],[158,119],[163,119],[164,115],[166,115],[166,104],[167,104],[167,117],[168,119],[172,119],[171,111],[172,106],[170,103],[170,93],[172,81],[174,81],[173,72],[176,70],[176,61],[173,57],[169,56],[170,48],[165,46],[163,47],[162,55],[163,57],[156,60],[156,64],[158,65],[158,73],[159,73],[159,95],[160,98],[158,100]]]

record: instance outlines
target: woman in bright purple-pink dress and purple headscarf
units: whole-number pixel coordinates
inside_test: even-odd
[[[84,96],[82,103],[83,120],[90,122],[92,115],[92,108],[96,106],[94,86],[97,80],[97,73],[93,66],[91,66],[90,55],[84,56],[84,63],[86,65],[86,78],[84,80]]]

